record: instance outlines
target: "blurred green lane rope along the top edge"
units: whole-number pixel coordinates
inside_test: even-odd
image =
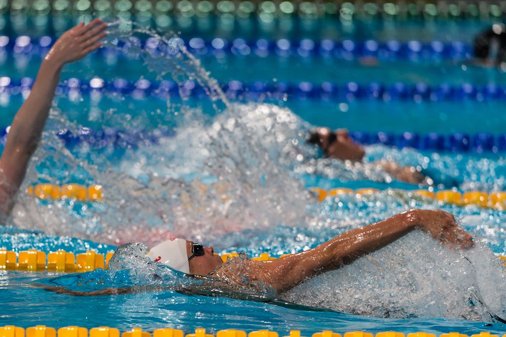
[[[16,4],[17,6],[14,7],[11,4]],[[48,13],[59,16],[65,13],[68,19],[64,27],[77,24],[80,16],[91,15],[91,13],[96,13],[99,17],[109,17],[111,14],[121,16],[121,14],[124,14],[129,17],[132,16],[134,22],[150,23],[160,29],[171,27],[172,21],[167,21],[168,17],[184,17],[187,19],[192,18],[192,20],[219,20],[220,16],[224,14],[232,15],[239,20],[250,18],[261,22],[272,22],[278,18],[290,21],[301,18],[304,20],[326,18],[334,19],[331,21],[338,22],[339,20],[335,20],[335,18],[341,18],[341,20],[345,21],[376,18],[388,19],[389,21],[394,20],[394,22],[411,22],[413,19],[430,22],[433,22],[435,19],[449,20],[450,22],[454,20],[461,22],[461,20],[466,19],[478,20],[478,22],[480,20],[482,22],[490,22],[490,20],[491,22],[495,22],[500,21],[506,12],[503,1],[482,1],[476,3],[469,0],[450,3],[434,3],[427,0],[417,3],[405,3],[400,0],[386,3],[358,2],[353,0],[349,2],[325,1],[322,3],[310,1],[232,3],[220,0],[211,0],[207,3],[183,3],[182,0],[173,0],[161,3],[149,3],[142,2],[141,0],[132,0],[128,4],[128,7],[121,8],[117,7],[117,4],[114,4],[112,0],[104,0],[99,5],[86,2],[79,4],[79,7],[73,6],[73,2],[61,3],[56,0],[43,3],[27,2],[21,4],[4,2],[0,3],[0,12],[4,15],[15,16],[19,15],[21,11],[22,13],[27,13],[28,17],[33,21],[37,21],[35,18],[46,18]],[[175,21],[177,22],[178,20],[176,19]],[[436,20],[436,22],[439,22],[439,20]],[[29,27],[39,30],[61,30],[60,27],[51,25],[50,23],[51,20],[49,22],[46,21],[43,28],[40,25],[30,25]],[[467,22],[465,21],[465,23]],[[328,21],[327,24],[329,24]],[[276,25],[273,26],[277,27]],[[214,26],[211,25],[211,27]],[[8,25],[7,29],[9,28],[16,28],[16,25]],[[175,29],[176,27],[172,28]]]

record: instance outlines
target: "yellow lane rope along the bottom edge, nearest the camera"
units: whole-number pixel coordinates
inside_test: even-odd
[[[45,325],[36,325],[28,327],[26,330],[22,327],[14,325],[6,325],[0,327],[0,337],[119,337],[119,330],[113,327],[100,326],[88,330],[84,327],[66,326],[59,328],[47,327]],[[204,328],[195,329],[194,333],[184,334],[183,330],[172,328],[156,329],[153,333],[143,331],[142,328],[134,327],[130,331],[121,333],[121,337],[279,337],[279,333],[270,330],[258,330],[246,333],[243,330],[227,329],[220,330],[215,334],[207,333]],[[283,337],[303,337],[300,330],[290,330],[287,335]],[[352,331],[345,332],[343,335],[331,330],[323,330],[321,332],[313,333],[312,337],[436,337],[433,333],[427,332],[413,332],[408,333],[407,336],[402,332],[386,331],[378,332],[375,335],[369,332]],[[468,337],[467,334],[458,332],[442,333],[439,337]],[[500,337],[497,334],[490,332],[480,332],[472,334],[471,337]],[[506,334],[502,335],[506,337]]]

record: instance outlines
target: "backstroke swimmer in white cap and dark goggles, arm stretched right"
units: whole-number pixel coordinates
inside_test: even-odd
[[[238,264],[232,259],[223,263],[220,256],[214,254],[212,247],[204,247],[181,238],[173,238],[152,247],[148,257],[191,277],[204,277],[208,281],[215,280],[217,283],[258,292],[270,289],[279,295],[311,277],[350,264],[416,229],[429,233],[450,248],[469,249],[474,245],[473,237],[458,227],[453,215],[442,210],[411,209],[387,220],[338,235],[310,250],[272,261],[245,260]],[[113,259],[114,256],[111,261]],[[202,283],[195,286],[201,285]],[[43,284],[35,286],[75,296],[172,289],[142,286],[130,290],[122,287],[85,292]],[[198,289],[172,290],[199,292]]]

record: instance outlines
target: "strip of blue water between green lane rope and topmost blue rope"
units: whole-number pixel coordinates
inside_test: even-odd
[[[84,14],[84,13],[83,13]],[[88,14],[84,14],[88,15]],[[40,36],[61,33],[77,24],[77,18],[70,15],[61,15],[51,22],[46,16],[29,20],[29,16],[0,17],[0,28],[6,34]],[[10,21],[10,22],[9,22]],[[34,22],[35,21],[35,22]],[[135,21],[135,20],[134,20]],[[141,21],[141,20],[139,20]],[[148,22],[155,26],[155,22]],[[208,16],[191,18],[176,16],[171,20],[172,25],[157,27],[167,31],[181,31],[183,36],[223,37],[235,38],[313,38],[313,39],[376,39],[385,41],[397,39],[407,41],[418,39],[422,41],[466,41],[471,42],[473,36],[490,24],[494,18],[475,20],[459,18],[457,20],[384,20],[382,18],[365,18],[339,20],[334,17],[327,18],[300,18],[298,16],[275,18],[272,22],[259,20],[258,17],[249,18],[230,17],[220,18]],[[62,24],[63,23],[63,24]],[[141,22],[141,24],[144,24]],[[445,34],[441,34],[444,31]]]

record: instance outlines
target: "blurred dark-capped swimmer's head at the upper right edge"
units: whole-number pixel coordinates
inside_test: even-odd
[[[476,36],[473,51],[482,65],[501,65],[506,61],[506,26],[496,23]]]

